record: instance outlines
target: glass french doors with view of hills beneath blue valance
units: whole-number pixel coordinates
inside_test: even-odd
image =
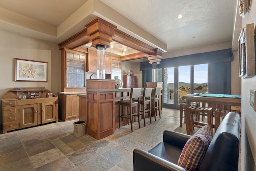
[[[208,92],[208,65],[179,66],[162,69],[163,106],[180,109],[183,95]]]

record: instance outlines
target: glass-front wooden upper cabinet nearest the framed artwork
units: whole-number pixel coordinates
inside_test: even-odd
[[[65,73],[62,85],[65,86],[62,86],[62,91],[85,91],[86,55],[84,52],[65,49],[65,68],[62,65],[62,73]]]

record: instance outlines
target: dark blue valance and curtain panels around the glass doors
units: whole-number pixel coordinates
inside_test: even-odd
[[[231,49],[218,50],[163,59],[157,68],[208,64],[208,93],[230,94],[231,62],[233,58]],[[142,84],[146,87],[146,82],[152,82],[152,65],[148,62],[141,62],[140,70],[142,71]]]

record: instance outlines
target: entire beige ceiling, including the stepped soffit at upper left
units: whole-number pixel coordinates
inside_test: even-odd
[[[110,6],[166,44],[167,52],[232,41],[236,0],[0,0],[0,29],[60,43],[84,28],[82,8],[91,2]],[[69,26],[72,17],[79,21]]]

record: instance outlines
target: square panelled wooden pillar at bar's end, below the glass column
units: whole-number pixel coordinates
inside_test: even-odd
[[[114,134],[115,81],[92,79],[87,82],[87,134],[99,140]]]

